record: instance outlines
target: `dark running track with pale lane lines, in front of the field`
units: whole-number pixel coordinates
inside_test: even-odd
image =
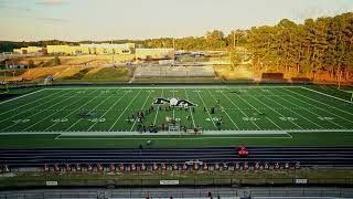
[[[301,167],[353,167],[353,147],[248,147],[246,158],[238,157],[233,147],[212,148],[61,148],[0,149],[0,165],[38,167],[44,164],[184,164],[200,160],[206,164],[296,164]]]

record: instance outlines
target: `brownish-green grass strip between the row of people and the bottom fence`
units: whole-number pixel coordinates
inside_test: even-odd
[[[282,185],[295,179],[308,179],[308,184],[352,185],[353,172],[345,169],[302,169],[267,171],[167,171],[167,172],[26,172],[12,177],[0,176],[0,187],[45,186],[45,181],[58,181],[60,186],[157,186],[159,180],[179,180],[186,185]]]

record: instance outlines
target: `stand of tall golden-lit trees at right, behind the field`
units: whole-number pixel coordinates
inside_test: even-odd
[[[353,13],[307,19],[302,24],[284,19],[274,27],[246,31],[246,49],[258,69],[309,74],[328,72],[350,78],[353,72]]]

